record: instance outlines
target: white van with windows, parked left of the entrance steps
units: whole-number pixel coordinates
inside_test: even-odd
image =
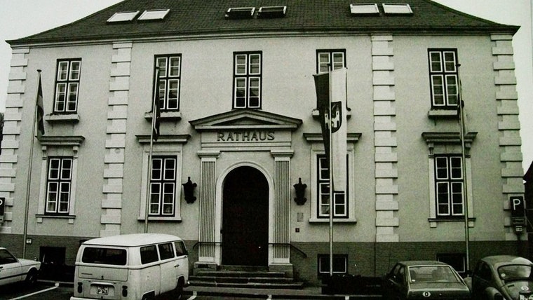
[[[137,233],[83,242],[76,256],[78,299],[154,299],[172,291],[179,299],[189,285],[189,259],[181,238]]]

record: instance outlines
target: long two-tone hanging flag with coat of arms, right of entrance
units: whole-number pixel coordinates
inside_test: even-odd
[[[346,68],[315,75],[315,88],[326,161],[332,169],[333,190],[346,191]]]

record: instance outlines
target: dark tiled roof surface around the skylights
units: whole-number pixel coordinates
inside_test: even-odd
[[[135,39],[198,34],[253,32],[409,32],[409,33],[496,33],[514,34],[519,27],[473,17],[430,0],[403,0],[412,15],[386,15],[379,1],[379,15],[351,15],[350,4],[368,0],[125,0],[68,25],[8,41],[11,45],[101,39]],[[229,20],[228,8],[287,6],[283,18]],[[170,8],[164,20],[107,23],[119,11]]]

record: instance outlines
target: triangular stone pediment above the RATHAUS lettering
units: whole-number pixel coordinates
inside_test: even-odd
[[[235,109],[189,121],[198,131],[224,129],[296,130],[302,120],[257,109]]]

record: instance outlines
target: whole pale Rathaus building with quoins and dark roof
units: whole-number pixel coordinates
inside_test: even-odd
[[[148,215],[149,232],[187,240],[191,268],[318,282],[331,210],[313,74],[346,67],[334,271],[379,276],[399,259],[464,271],[522,252],[509,205],[524,193],[518,27],[429,0],[204,2],[126,0],[8,41],[2,245],[73,264],[81,241],[143,232]]]

